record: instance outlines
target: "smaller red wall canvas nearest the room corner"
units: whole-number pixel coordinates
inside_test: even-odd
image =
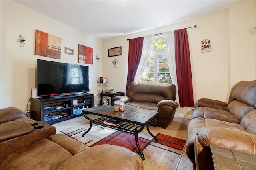
[[[93,48],[78,44],[78,62],[93,64]]]

